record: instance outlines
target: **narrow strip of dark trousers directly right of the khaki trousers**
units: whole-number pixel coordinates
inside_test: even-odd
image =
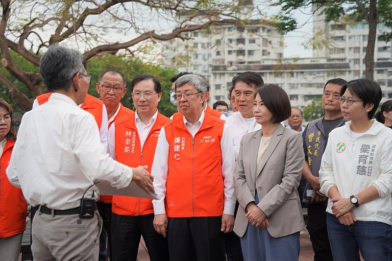
[[[112,258],[112,203],[97,202],[97,207],[103,221],[99,236],[99,261],[106,261],[108,257]]]

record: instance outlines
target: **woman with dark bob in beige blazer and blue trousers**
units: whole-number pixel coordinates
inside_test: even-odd
[[[305,228],[297,192],[302,137],[279,123],[291,115],[290,99],[279,86],[260,88],[253,112],[262,129],[241,142],[234,232],[241,237],[245,261],[297,261],[299,231]]]

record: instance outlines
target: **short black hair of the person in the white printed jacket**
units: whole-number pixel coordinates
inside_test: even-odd
[[[344,92],[348,89],[351,94],[357,95],[363,103],[364,107],[367,104],[373,104],[373,109],[368,112],[368,118],[373,119],[374,114],[377,111],[378,105],[383,97],[380,85],[367,78],[360,78],[352,80],[343,85],[340,90],[340,95],[343,96]]]

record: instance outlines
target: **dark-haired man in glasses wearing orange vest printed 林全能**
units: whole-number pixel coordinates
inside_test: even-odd
[[[150,170],[161,128],[171,120],[157,110],[162,97],[157,78],[149,74],[138,75],[133,79],[130,91],[136,112],[110,126],[109,154],[127,166],[143,163]],[[113,261],[136,261],[141,236],[151,261],[169,260],[167,240],[152,224],[151,199],[113,196],[112,211]]]

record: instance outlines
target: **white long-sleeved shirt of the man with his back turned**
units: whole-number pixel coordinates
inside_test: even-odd
[[[119,189],[129,185],[132,169],[109,157],[96,126],[90,113],[58,93],[25,113],[6,172],[29,204],[72,209],[95,182],[107,181]],[[96,187],[85,197],[93,190],[98,199]]]

